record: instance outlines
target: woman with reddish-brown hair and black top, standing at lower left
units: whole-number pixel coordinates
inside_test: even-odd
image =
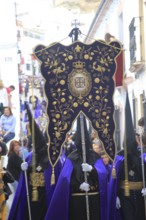
[[[12,183],[14,190],[18,185],[18,180],[21,173],[21,163],[23,160],[20,158],[20,142],[13,140],[10,143],[8,151],[8,171],[13,175],[15,181]]]

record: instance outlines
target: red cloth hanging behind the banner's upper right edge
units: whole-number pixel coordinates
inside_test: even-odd
[[[117,68],[114,75],[116,87],[123,85],[123,73],[124,73],[124,52],[121,53],[116,58]]]

